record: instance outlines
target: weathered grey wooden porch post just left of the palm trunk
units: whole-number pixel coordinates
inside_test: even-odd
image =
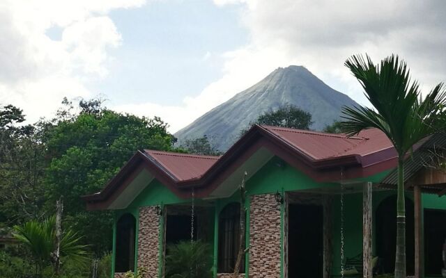
[[[367,182],[362,195],[362,265],[363,277],[372,278],[371,265],[371,182]]]

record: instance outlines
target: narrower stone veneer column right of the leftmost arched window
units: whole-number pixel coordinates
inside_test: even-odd
[[[146,268],[147,277],[158,277],[159,225],[160,216],[157,215],[155,206],[139,208],[138,268]]]

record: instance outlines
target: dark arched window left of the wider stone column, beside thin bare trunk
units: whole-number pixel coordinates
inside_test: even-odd
[[[240,246],[240,204],[226,205],[220,212],[218,233],[218,272],[231,273],[236,266]],[[245,259],[240,265],[245,272]]]

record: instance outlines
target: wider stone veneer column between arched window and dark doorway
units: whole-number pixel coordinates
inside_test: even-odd
[[[280,277],[280,214],[274,194],[251,197],[249,277]]]

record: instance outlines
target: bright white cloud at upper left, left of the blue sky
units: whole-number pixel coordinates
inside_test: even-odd
[[[107,49],[121,35],[107,16],[144,0],[6,0],[0,3],[0,104],[23,108],[30,121],[56,111],[62,97],[88,97],[84,86],[107,74]],[[61,28],[61,40],[47,30]]]

